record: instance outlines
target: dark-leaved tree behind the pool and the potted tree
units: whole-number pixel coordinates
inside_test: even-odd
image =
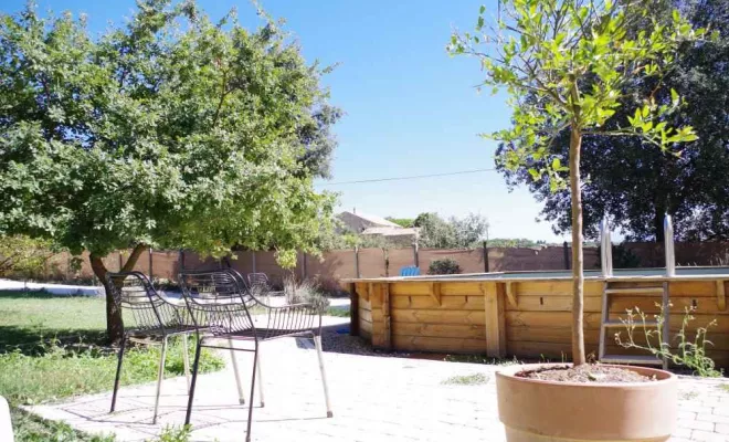
[[[663,3],[668,3],[663,4]],[[662,242],[663,219],[669,213],[675,234],[687,241],[729,239],[729,1],[655,2],[651,9],[655,20],[672,20],[670,3],[682,8],[694,27],[715,31],[716,39],[701,44],[678,48],[676,64],[663,77],[664,87],[656,88],[652,78],[640,78],[625,85],[623,96],[643,97],[654,94],[659,102],[669,99],[675,88],[686,101],[670,117],[674,124],[690,124],[698,141],[686,144],[680,156],[664,155],[635,137],[584,137],[582,175],[589,177],[583,187],[584,231],[596,239],[602,217],[610,213],[613,224],[622,228],[626,239]],[[631,32],[637,33],[638,25]],[[627,118],[628,109],[616,109],[611,127]],[[554,155],[567,157],[569,128],[552,145]],[[497,151],[508,149],[501,145]],[[543,164],[546,159],[541,162]],[[543,167],[539,166],[538,168]],[[550,191],[548,176],[535,180],[526,169],[509,170],[499,165],[510,186],[526,183],[537,200],[543,202],[542,219],[551,221],[556,233],[570,230],[570,193],[567,189]],[[560,173],[566,179],[566,173]]]

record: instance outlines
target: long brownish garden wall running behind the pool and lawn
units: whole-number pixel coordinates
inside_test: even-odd
[[[640,261],[642,267],[664,266],[663,245],[655,243],[628,243],[624,245]],[[445,257],[457,261],[463,273],[514,272],[567,270],[570,267],[571,250],[568,246],[542,248],[488,248],[488,259],[484,249],[442,250],[413,248],[335,250],[323,254],[321,259],[299,253],[294,273],[298,277],[318,277],[330,287],[337,287],[344,278],[387,277],[400,274],[400,269],[418,265],[426,273],[431,262]],[[585,248],[585,269],[600,267],[600,253],[595,248]],[[729,243],[677,243],[676,261],[679,265],[716,265],[729,260]],[[117,271],[126,261],[128,252],[113,252],[104,259],[107,269]],[[93,278],[88,264],[88,254],[80,256],[80,267],[74,267],[73,256],[68,253],[54,255],[45,267],[32,278],[41,281],[73,281]],[[201,270],[232,266],[241,273],[264,272],[274,281],[281,281],[288,271],[281,269],[273,252],[243,251],[236,259],[222,261],[201,259],[198,254],[186,251],[142,252],[135,270],[151,274],[156,278],[177,280],[182,269]],[[619,265],[616,265],[619,267]]]

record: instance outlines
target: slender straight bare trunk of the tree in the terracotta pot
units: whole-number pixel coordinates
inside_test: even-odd
[[[572,361],[585,362],[584,356],[584,262],[582,256],[582,186],[580,148],[582,134],[572,127],[570,134],[570,196],[572,203]]]

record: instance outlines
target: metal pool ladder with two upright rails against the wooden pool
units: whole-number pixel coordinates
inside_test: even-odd
[[[666,276],[674,276],[676,274],[676,259],[674,255],[674,229],[669,215],[666,215],[664,221],[665,231],[665,251],[666,251]],[[655,365],[663,366],[664,369],[668,368],[668,360],[666,358],[659,359],[654,355],[606,355],[605,339],[613,336],[610,330],[615,328],[624,328],[625,324],[620,319],[610,319],[610,306],[613,296],[633,295],[633,296],[647,296],[657,297],[661,295],[661,311],[664,315],[663,323],[663,343],[667,343],[669,333],[669,305],[670,299],[668,296],[668,282],[621,282],[612,280],[613,277],[613,260],[612,260],[612,242],[610,240],[610,223],[608,217],[602,220],[600,224],[601,238],[601,262],[602,262],[602,276],[605,278],[602,292],[602,309],[600,313],[600,348],[599,360],[606,364],[637,364],[637,365]],[[646,320],[645,323],[634,323],[636,328],[640,327],[656,327],[656,320]]]

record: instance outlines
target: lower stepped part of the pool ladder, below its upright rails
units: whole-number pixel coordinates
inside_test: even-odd
[[[599,360],[603,364],[634,364],[634,365],[651,365],[662,366],[664,369],[668,367],[667,359],[661,359],[654,355],[606,355],[605,339],[614,336],[610,333],[614,328],[625,328],[625,324],[620,319],[610,319],[610,305],[613,296],[631,295],[631,296],[648,296],[662,298],[662,312],[664,314],[663,324],[663,339],[664,343],[668,339],[668,314],[669,314],[669,299],[668,299],[668,283],[661,285],[641,285],[637,287],[615,286],[615,282],[605,281],[602,292],[602,312],[600,316],[600,352]],[[646,320],[634,323],[636,328],[640,327],[655,327],[656,320]]]

